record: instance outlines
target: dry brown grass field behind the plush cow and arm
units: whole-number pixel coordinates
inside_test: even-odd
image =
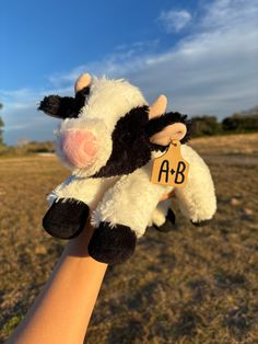
[[[196,139],[216,186],[213,222],[177,214],[150,228],[133,257],[109,267],[86,343],[258,343],[258,139]],[[42,228],[45,196],[67,175],[55,158],[0,160],[0,339],[21,321],[63,242]]]

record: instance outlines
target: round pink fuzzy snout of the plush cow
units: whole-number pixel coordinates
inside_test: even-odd
[[[66,130],[61,136],[61,150],[67,161],[74,168],[86,168],[96,156],[96,137],[83,129]]]

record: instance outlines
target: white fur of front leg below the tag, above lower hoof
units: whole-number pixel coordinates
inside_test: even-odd
[[[120,223],[134,230],[138,238],[144,234],[151,215],[167,187],[150,182],[152,163],[124,175],[108,190],[93,213],[92,223],[101,221]]]

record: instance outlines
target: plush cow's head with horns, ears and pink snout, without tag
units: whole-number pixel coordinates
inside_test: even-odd
[[[165,113],[164,95],[148,105],[141,91],[128,81],[81,76],[75,96],[46,96],[44,113],[61,118],[57,136],[59,158],[82,176],[128,174],[144,165],[153,150],[172,139],[189,139],[186,115]]]

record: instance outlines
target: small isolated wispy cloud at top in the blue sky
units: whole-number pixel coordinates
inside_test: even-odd
[[[186,10],[180,11],[162,11],[159,21],[164,26],[166,33],[179,32],[191,21],[191,14]]]

